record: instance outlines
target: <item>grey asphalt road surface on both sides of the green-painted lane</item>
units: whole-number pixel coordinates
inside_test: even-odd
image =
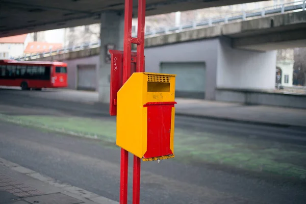
[[[8,114],[65,113],[82,117],[107,117],[106,106],[73,101],[52,100],[18,90],[1,90],[0,105],[23,107],[22,112]],[[114,117],[107,117],[114,120]],[[305,130],[279,128],[236,122],[176,117],[175,125],[190,131],[227,133],[236,137],[256,135],[267,141],[303,144]],[[0,157],[118,200],[118,148],[103,142],[82,139],[30,127],[0,122]],[[132,157],[130,157],[132,167]],[[132,169],[131,169],[132,170]],[[129,193],[132,195],[132,171]],[[129,196],[131,201],[132,196]],[[261,177],[206,163],[184,163],[178,160],[142,162],[142,203],[304,203],[306,185],[302,182]]]

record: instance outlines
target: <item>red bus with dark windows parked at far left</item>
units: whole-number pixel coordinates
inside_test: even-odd
[[[22,90],[67,87],[67,64],[0,60],[0,86],[20,86]]]

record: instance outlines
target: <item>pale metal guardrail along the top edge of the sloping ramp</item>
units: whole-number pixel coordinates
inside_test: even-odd
[[[209,19],[201,19],[199,21],[189,21],[182,23],[179,26],[173,26],[173,27],[163,27],[163,28],[157,28],[155,30],[152,30],[150,32],[146,32],[145,36],[156,36],[156,35],[163,35],[163,34],[169,34],[172,32],[182,32],[183,30],[188,30],[188,29],[197,29],[200,27],[205,27],[205,26],[212,26],[213,24],[218,24],[218,23],[229,23],[237,20],[246,20],[247,18],[253,18],[253,17],[264,17],[266,15],[271,15],[271,14],[276,14],[276,13],[286,13],[290,11],[305,11],[305,6],[306,6],[306,0],[299,1],[299,2],[292,2],[292,3],[287,3],[287,4],[281,4],[281,5],[275,5],[271,7],[265,7],[261,9],[256,9],[256,10],[250,10],[250,11],[242,11],[242,12],[236,12],[232,14],[228,14],[226,16],[216,16],[213,18]],[[136,33],[132,33],[133,37],[136,37]],[[49,49],[45,50],[44,52],[41,53],[31,53],[31,54],[25,54],[22,56],[17,56],[17,57],[12,57],[11,59],[18,60],[18,61],[27,61],[27,60],[34,60],[42,57],[48,57],[48,56],[53,56],[53,55],[58,55],[58,54],[63,54],[63,53],[68,53],[68,52],[74,52],[77,50],[82,50],[82,49],[88,49],[88,48],[95,48],[100,46],[100,41],[98,42],[84,42],[80,44],[76,44],[70,47],[64,47],[60,49]]]

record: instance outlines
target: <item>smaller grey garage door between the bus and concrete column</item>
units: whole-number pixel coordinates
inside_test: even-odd
[[[96,90],[96,66],[79,65],[78,66],[78,89]]]

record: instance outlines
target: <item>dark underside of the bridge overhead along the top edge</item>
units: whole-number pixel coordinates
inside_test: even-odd
[[[146,0],[146,15],[234,5],[260,0]],[[134,0],[134,16],[137,17]],[[2,0],[0,37],[100,22],[103,12],[123,13],[124,0]]]

